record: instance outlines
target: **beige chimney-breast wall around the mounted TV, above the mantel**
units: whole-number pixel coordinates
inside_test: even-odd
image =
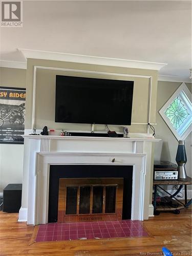
[[[148,75],[153,76],[153,88],[152,88],[152,111],[151,122],[155,122],[156,119],[156,94],[157,94],[157,71],[153,70],[141,70],[141,69],[127,69],[119,67],[108,67],[98,65],[86,65],[81,63],[61,62],[61,61],[49,61],[49,60],[37,60],[28,59],[27,64],[27,105],[26,105],[26,128],[31,129],[32,125],[32,100],[33,100],[33,67],[46,66],[56,68],[67,68],[77,70],[88,71],[100,71],[110,73],[122,73],[122,74],[135,74],[135,75]],[[101,74],[88,74],[88,73],[76,73],[67,71],[56,71],[37,69],[36,75],[36,111],[35,111],[35,127],[42,129],[45,125],[49,129],[65,129],[65,130],[87,130],[91,129],[90,124],[69,124],[69,123],[55,123],[55,75],[71,75],[71,76],[83,76],[94,78],[106,78],[106,79],[124,79],[134,80],[134,97],[133,97],[133,113],[132,122],[147,122],[147,109],[148,109],[148,90],[149,79],[140,77],[125,77],[125,76],[113,76],[113,75],[101,75]],[[112,127],[113,129],[113,127]],[[114,127],[116,131],[122,131],[122,127]],[[130,132],[146,132],[146,125],[131,125]],[[95,125],[96,131],[105,131],[104,125]]]

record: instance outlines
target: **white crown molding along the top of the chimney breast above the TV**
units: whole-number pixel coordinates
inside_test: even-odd
[[[57,61],[69,61],[78,63],[87,63],[93,65],[104,65],[134,69],[148,69],[148,70],[160,70],[162,67],[167,65],[166,63],[147,62],[130,59],[117,59],[117,58],[105,58],[88,55],[68,54],[60,52],[49,52],[29,49],[17,49],[22,52],[26,59],[47,59]]]

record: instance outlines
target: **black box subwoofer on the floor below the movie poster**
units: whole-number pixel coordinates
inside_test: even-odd
[[[18,212],[22,205],[22,184],[8,184],[3,190],[3,211]]]

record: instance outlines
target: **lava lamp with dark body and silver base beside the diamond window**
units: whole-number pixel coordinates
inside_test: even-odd
[[[185,163],[187,162],[184,140],[179,141],[177,148],[176,162],[178,164],[178,178],[186,179]]]

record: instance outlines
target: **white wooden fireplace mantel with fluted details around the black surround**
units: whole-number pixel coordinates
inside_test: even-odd
[[[132,220],[149,216],[152,143],[160,139],[24,135],[25,155],[23,197],[27,208],[19,211],[19,221],[48,222],[50,165],[132,165]],[[112,162],[112,159],[115,161]],[[24,217],[26,216],[26,217]]]

